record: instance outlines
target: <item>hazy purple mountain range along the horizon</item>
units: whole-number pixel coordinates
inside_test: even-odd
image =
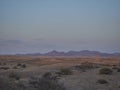
[[[59,52],[56,50],[47,52],[47,53],[32,53],[32,54],[16,54],[21,56],[120,56],[120,53],[103,53],[99,51],[89,51],[89,50],[82,50],[82,51],[68,51],[68,52]]]

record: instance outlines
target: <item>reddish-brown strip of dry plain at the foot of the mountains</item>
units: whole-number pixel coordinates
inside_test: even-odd
[[[119,65],[120,57],[39,57],[39,56],[0,56],[0,62],[27,62],[35,65],[52,65],[52,64],[81,64],[84,62],[98,63],[103,65]]]

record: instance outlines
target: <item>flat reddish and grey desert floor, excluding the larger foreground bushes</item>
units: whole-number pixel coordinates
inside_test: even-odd
[[[56,74],[66,68],[72,73]],[[101,68],[109,68],[112,73],[100,74]],[[120,57],[0,56],[0,77],[9,77],[11,72],[17,73],[20,79],[16,81],[23,82],[26,87],[31,77],[51,72],[66,90],[120,90]],[[99,79],[107,83],[101,84]]]

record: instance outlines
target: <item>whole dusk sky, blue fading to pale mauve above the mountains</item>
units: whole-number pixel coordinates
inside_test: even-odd
[[[120,52],[120,0],[0,0],[0,54]]]

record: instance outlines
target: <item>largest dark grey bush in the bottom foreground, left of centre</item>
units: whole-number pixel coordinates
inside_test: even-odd
[[[29,83],[35,90],[66,90],[58,79],[53,79],[51,73],[46,73],[41,78],[32,78]]]

